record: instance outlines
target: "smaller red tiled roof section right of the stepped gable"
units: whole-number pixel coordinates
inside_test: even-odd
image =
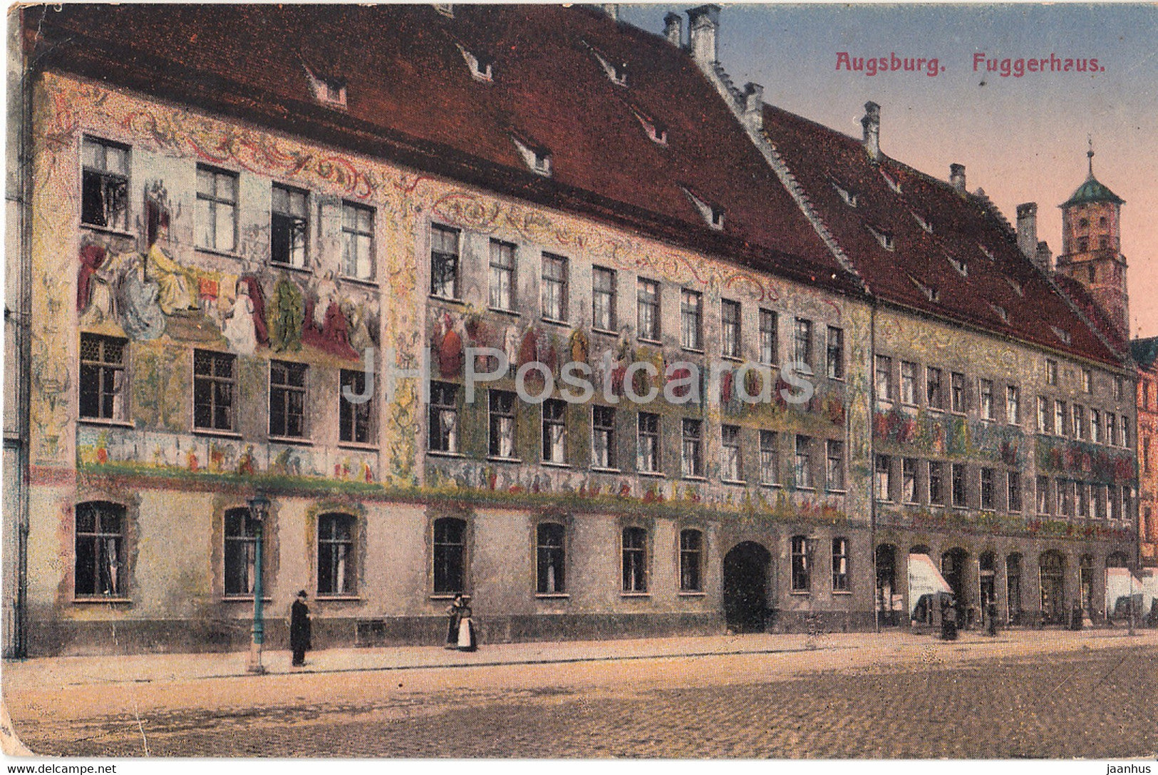
[[[764,108],[764,131],[872,294],[1055,350],[1121,363],[1018,249],[1016,234],[988,198],[962,196],[888,156],[874,162],[859,139],[771,105]],[[836,187],[855,192],[856,206]],[[873,229],[892,235],[892,249],[881,246]],[[963,275],[954,262],[963,265]],[[936,288],[936,301],[925,288]]]

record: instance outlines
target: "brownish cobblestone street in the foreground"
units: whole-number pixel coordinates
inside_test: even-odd
[[[1153,638],[1069,645],[1025,653],[914,638],[889,649],[130,682],[9,699],[9,710],[23,743],[51,755],[1152,756]],[[457,730],[453,751],[448,729]]]

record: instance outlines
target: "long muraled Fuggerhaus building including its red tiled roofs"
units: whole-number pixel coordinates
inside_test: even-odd
[[[460,591],[484,642],[908,624],[910,555],[965,615],[1102,614],[1126,359],[879,114],[805,132],[689,17],[27,9],[24,651],[237,648],[258,572],[321,645],[438,643]]]

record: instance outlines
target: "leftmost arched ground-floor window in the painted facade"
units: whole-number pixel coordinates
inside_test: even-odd
[[[73,584],[78,598],[124,593],[125,507],[115,503],[76,504],[76,564]]]

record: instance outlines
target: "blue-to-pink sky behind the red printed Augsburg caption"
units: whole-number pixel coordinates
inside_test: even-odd
[[[621,6],[655,32],[681,6]],[[687,16],[684,16],[687,35]],[[1014,219],[1039,204],[1039,239],[1061,248],[1064,202],[1094,174],[1120,197],[1122,251],[1130,265],[1131,334],[1158,335],[1158,6],[1143,5],[728,5],[720,63],[764,100],[860,136],[868,100],[881,105],[881,147],[938,177],[963,163],[969,190],[985,190]],[[852,57],[937,58],[944,68],[868,76],[836,70]],[[974,72],[973,57],[1095,58],[1104,72]]]

